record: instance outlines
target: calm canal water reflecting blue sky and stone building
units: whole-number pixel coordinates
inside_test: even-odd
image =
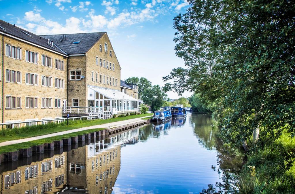
[[[210,115],[188,113],[4,163],[0,193],[226,193],[231,160],[213,125]]]

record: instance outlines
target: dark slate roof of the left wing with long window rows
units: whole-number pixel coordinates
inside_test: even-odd
[[[66,55],[66,53],[60,50],[56,45],[53,45],[53,47],[48,45],[47,39],[12,24],[8,24],[3,20],[0,20],[0,31]]]

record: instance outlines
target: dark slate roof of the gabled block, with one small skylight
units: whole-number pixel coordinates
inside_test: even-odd
[[[58,45],[63,51],[71,54],[86,53],[106,32],[80,33],[80,34],[57,34],[42,35]],[[78,44],[72,44],[74,41],[80,41]]]

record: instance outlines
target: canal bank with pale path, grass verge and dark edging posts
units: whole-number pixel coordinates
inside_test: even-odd
[[[40,154],[44,150],[54,150],[55,147],[63,147],[63,145],[71,145],[71,142],[85,141],[91,137],[107,136],[109,133],[116,133],[135,126],[146,124],[149,122],[145,117],[136,119],[126,119],[123,121],[111,122],[101,125],[93,125],[79,129],[61,131],[37,137],[25,139],[17,139],[13,141],[0,143],[0,164],[1,162],[12,162],[19,158],[31,157],[32,154]],[[144,120],[142,120],[144,119]]]

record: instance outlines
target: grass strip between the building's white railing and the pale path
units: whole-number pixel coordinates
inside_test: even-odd
[[[131,115],[126,117],[117,117],[112,119],[96,119],[96,120],[69,120],[69,125],[66,125],[66,122],[61,124],[47,124],[47,125],[35,125],[31,127],[21,127],[14,129],[2,129],[0,130],[0,142],[6,142],[10,140],[16,139],[24,139],[28,137],[35,137],[40,135],[46,135],[51,133],[56,133],[60,131],[68,131],[71,129],[78,129],[81,127],[100,125],[106,123],[112,123],[116,121],[124,121],[128,119],[135,119],[144,116],[150,116],[152,114],[139,114],[139,115]]]

